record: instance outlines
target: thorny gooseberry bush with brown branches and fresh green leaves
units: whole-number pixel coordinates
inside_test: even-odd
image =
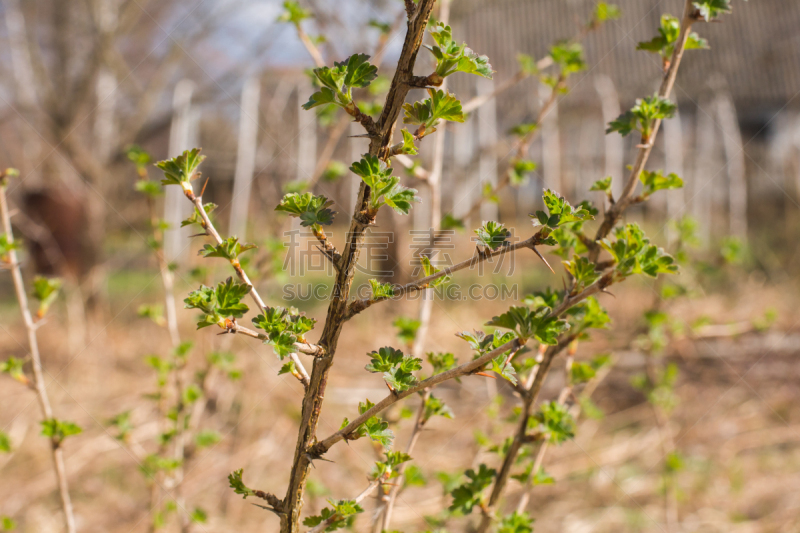
[[[313,70],[315,90],[308,95],[303,109],[321,115],[346,113],[363,127],[364,136],[369,140],[367,153],[350,162],[349,170],[361,178],[361,183],[355,209],[349,217],[346,240],[338,247],[324,229],[333,223],[337,214],[330,199],[313,191],[294,190],[275,207],[278,212],[296,217],[300,225],[310,228],[320,243],[320,253],[332,265],[334,287],[324,323],[318,324],[292,308],[268,305],[262,299],[246,272],[245,254],[254,245],[240,242],[236,236],[221,235],[211,218],[216,206],[204,202],[205,186],[197,190],[195,180],[200,177],[200,166],[205,159],[199,148],[156,164],[164,175],[161,184],[180,187],[194,206],[193,214],[184,225],[199,227],[200,233],[194,237],[207,240],[201,255],[209,260],[227,262],[233,271],[231,277],[201,285],[186,295],[184,307],[199,316],[197,328],[215,327],[223,333],[244,335],[269,345],[283,362],[280,373],[294,376],[303,386],[296,446],[288,465],[289,481],[283,496],[252,488],[250,484],[258,480],[248,479],[242,469],[229,476],[230,487],[236,494],[259,500],[260,507],[279,517],[282,533],[348,527],[364,514],[362,504],[373,494],[379,496],[378,509],[371,515],[373,528],[393,531],[392,509],[398,493],[422,477],[420,469],[414,465],[414,448],[420,432],[433,417],[453,416],[451,407],[436,395],[436,387],[445,381],[460,381],[475,375],[497,376],[513,388],[518,401],[514,411],[515,429],[502,442],[487,443],[489,449],[496,452],[496,464],[480,463],[463,473],[445,476],[443,484],[450,495],[449,504],[437,515],[435,527],[445,531],[450,521],[458,518],[471,520],[470,530],[482,533],[532,531],[534,516],[527,507],[529,494],[536,485],[554,482],[543,467],[545,452],[549,446],[558,446],[574,437],[576,416],[581,409],[587,412],[596,409],[589,395],[597,380],[608,371],[608,356],[598,355],[586,361],[576,361],[573,357],[578,343],[588,339],[593,330],[610,327],[611,319],[601,305],[605,293],[633,276],[662,279],[679,273],[678,261],[673,255],[654,244],[636,223],[623,223],[622,217],[630,206],[646,202],[659,191],[683,185],[679,176],[665,175],[661,170],[646,166],[661,122],[670,119],[676,111],[670,97],[684,52],[708,46],[693,28],[728,13],[730,0],[687,0],[680,18],[664,15],[656,35],[639,44],[640,50],[660,58],[660,63],[656,64],[663,69],[662,82],[655,94],[643,95],[630,110],[608,124],[610,135],[638,135],[639,139],[634,163],[618,197],[612,193],[611,178],[600,176],[591,190],[605,193],[603,206],[594,206],[588,201],[576,202],[556,191],[546,190],[543,207],[530,206],[532,226],[529,235],[520,242],[510,242],[511,232],[504,224],[485,221],[473,228],[478,244],[474,251],[465,253],[467,257],[461,262],[437,268],[423,258],[424,275],[419,279],[404,285],[370,280],[370,296],[353,296],[351,289],[365,232],[375,226],[378,213],[381,209],[392,209],[399,215],[408,215],[420,202],[417,191],[402,184],[396,163],[417,156],[420,143],[426,137],[435,136],[443,124],[458,127],[459,123],[469,120],[468,111],[480,103],[462,103],[447,89],[447,78],[493,76],[489,58],[457,40],[446,22],[432,18],[435,4],[435,0],[405,0],[407,20],[402,51],[383,102],[375,104],[365,99],[373,95],[370,87],[378,80],[378,67],[370,63],[370,56],[357,53],[325,65],[315,39],[303,29],[303,21],[310,13],[296,2],[285,3],[281,20],[296,27],[318,65]],[[507,172],[497,185],[484,189],[480,201],[495,199],[502,187],[520,185],[533,171],[535,162],[526,159],[527,148],[537,134],[543,114],[567,92],[570,76],[586,68],[581,39],[587,32],[600,28],[603,22],[619,16],[616,6],[600,2],[591,20],[581,26],[574,38],[554,43],[548,55],[540,60],[519,57],[519,73],[513,79],[534,77],[550,87],[551,95],[543,102],[535,122],[519,124],[512,130],[517,139],[516,149]],[[430,52],[433,68],[418,74],[415,65],[421,48]],[[137,189],[149,198],[160,194],[158,184],[147,179],[149,156],[133,149],[129,157],[142,178]],[[412,163],[412,170],[418,170],[418,166],[419,163]],[[342,173],[344,169],[337,172]],[[152,222],[154,249],[162,267],[165,289],[171,293],[171,266],[164,262],[160,252],[160,232],[164,228],[156,219]],[[463,220],[448,216],[442,220],[440,229],[463,226]],[[10,230],[6,228],[6,231]],[[0,235],[0,257],[14,263],[14,242],[8,235],[10,233]],[[383,379],[387,395],[377,402],[364,399],[357,411],[343,420],[338,431],[330,435],[319,433],[328,376],[339,359],[338,341],[352,318],[368,313],[372,306],[382,302],[444,285],[459,271],[504,254],[534,253],[551,268],[542,255],[544,249],[562,259],[564,286],[525,296],[506,312],[487,316],[485,330],[454,332],[464,341],[463,352],[458,355],[428,353],[423,360],[408,353],[419,324],[410,320],[396,322],[402,344],[375,346],[368,354],[369,363],[365,367],[366,372]],[[37,288],[36,291],[41,292],[46,312],[55,287],[42,283],[41,290]],[[140,313],[156,322],[167,322],[170,329],[175,328],[169,301],[166,318],[155,308],[143,308]],[[648,332],[657,338],[663,320],[657,314],[652,317]],[[246,325],[248,322],[250,325]],[[163,431],[159,449],[147,455],[145,473],[161,480],[171,479],[174,485],[180,485],[181,468],[190,457],[187,450],[207,445],[217,438],[200,432],[192,419],[202,414],[194,413],[191,407],[203,393],[203,374],[194,380],[182,377],[190,349],[191,344],[182,342],[175,328],[170,355],[148,360],[156,373],[157,389],[151,397],[158,406]],[[655,344],[653,350],[657,350]],[[544,401],[540,398],[543,384],[559,357],[563,359],[564,388],[557,398]],[[235,372],[230,371],[231,362],[224,354],[212,354],[206,372],[216,368],[235,379]],[[2,368],[17,381],[26,382],[20,365],[11,361]],[[674,377],[670,368],[656,368],[639,383],[664,416],[669,412],[664,398],[668,396]],[[416,414],[411,415],[414,419],[412,439],[401,449],[395,442],[391,424],[382,416],[389,407],[406,399],[416,406]],[[125,441],[128,432],[125,416],[115,418],[112,425],[117,428],[119,439]],[[60,448],[66,437],[79,431],[76,426],[52,416],[45,418],[43,428],[54,450]],[[306,487],[315,461],[325,460],[326,454],[337,444],[358,439],[369,439],[383,449],[382,458],[367,473],[367,486],[360,494],[337,494],[338,499],[329,500],[329,505],[317,515],[304,514]],[[174,452],[176,442],[180,443],[178,453]],[[675,462],[677,464],[678,460]],[[511,479],[523,487],[522,497],[516,504],[506,495]],[[67,508],[65,503],[65,511]],[[165,512],[169,509],[154,510],[154,513]],[[196,513],[194,518],[202,521],[204,513],[201,510]]]

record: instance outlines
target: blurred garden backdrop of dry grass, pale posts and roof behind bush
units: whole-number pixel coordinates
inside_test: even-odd
[[[660,84],[660,59],[636,44],[656,34],[663,13],[680,15],[679,0],[617,2],[622,16],[583,38],[587,68],[570,78],[569,91],[539,124],[525,154],[536,168],[515,186],[493,190],[515,149],[510,130],[534,121],[550,94],[535,76],[518,75],[517,55],[539,59],[554,42],[574,38],[594,4],[453,0],[456,40],[488,55],[496,73],[494,80],[451,78],[450,90],[472,111],[465,124],[448,123],[436,134],[444,139],[442,213],[464,219],[467,228],[448,241],[451,260],[469,257],[471,228],[481,220],[529,235],[527,215],[541,208],[543,188],[573,203],[594,201],[601,210],[604,195],[590,192],[592,183],[612,176],[621,188],[637,141],[605,135],[605,125]],[[359,95],[362,110],[377,116],[405,32],[402,2],[309,0],[303,7],[312,17],[302,22],[302,34],[325,64],[361,52],[380,58],[381,77]],[[555,483],[536,487],[528,507],[537,531],[800,531],[800,4],[754,0],[734,8],[722,23],[697,25],[710,49],[687,53],[673,93],[678,114],[664,122],[649,163],[677,173],[686,186],[627,214],[655,242],[682,254],[683,274],[669,285],[679,290],[642,281],[603,298],[613,329],[581,344],[576,358],[608,353],[614,366],[592,391],[595,416],[584,414],[576,440],[547,460]],[[308,252],[300,261],[316,252],[303,235],[299,249],[290,245],[299,226],[274,207],[284,192],[324,194],[339,213],[328,234],[340,245],[359,183],[347,167],[367,140],[353,137],[362,130],[344,113],[301,109],[314,91],[308,75],[314,60],[295,26],[278,20],[283,12],[276,0],[0,2],[0,167],[21,171],[8,192],[26,279],[64,280],[64,296],[39,334],[57,411],[84,428],[65,451],[81,531],[149,531],[154,523],[184,531],[277,527],[274,516],[234,497],[226,476],[245,468],[252,486],[283,494],[302,387],[277,375],[281,363],[271,349],[194,332],[195,317],[183,309],[180,334],[194,342],[187,369],[216,369],[203,384],[194,429],[219,438],[187,459],[176,482],[180,498],[174,486],[140,472],[163,429],[158,406],[143,397],[157,387],[145,357],[166,357],[172,349],[155,310],[164,288],[151,215],[167,223],[163,253],[179,303],[200,283],[229,272],[197,257],[200,238],[179,227],[191,205],[178,188],[168,188],[174,190],[148,210],[148,199],[134,190],[140,176],[127,149],[139,145],[156,161],[202,146],[204,199],[218,205],[215,221],[224,235],[259,246],[246,268],[265,300],[324,320],[324,299],[287,299],[287,287],[298,296],[309,284],[329,287],[331,277],[324,269],[290,268],[298,250]],[[420,54],[418,74],[430,59]],[[420,143],[418,166],[396,172],[423,203],[409,217],[381,213],[374,240],[385,243],[359,275],[362,284],[378,271],[386,280],[409,281],[418,275],[421,253],[436,255],[415,240],[431,227],[425,169],[432,166],[432,139]],[[159,177],[152,167],[150,174]],[[505,280],[522,298],[560,287],[556,271],[525,256],[504,268],[507,278],[499,269],[468,272],[461,284]],[[417,348],[468,358],[453,334],[480,327],[512,303],[440,299],[431,333]],[[385,395],[379,377],[363,371],[364,354],[408,341],[396,334],[413,326],[419,306],[375,308],[349,324],[323,433],[352,417],[358,401]],[[0,326],[0,352],[25,357],[25,330],[5,274]],[[235,359],[234,382],[219,357],[210,362],[222,353]],[[664,378],[668,368],[676,370],[671,383]],[[649,385],[637,386],[642,374]],[[20,531],[60,531],[35,398],[2,377],[0,428],[14,445],[0,454],[0,515],[12,517]],[[671,394],[666,403],[652,394],[662,385]],[[557,396],[562,386],[556,375],[546,394]],[[505,383],[470,378],[442,388],[455,418],[437,420],[424,434],[414,457],[425,483],[402,493],[395,518],[402,531],[434,529],[431,515],[449,504],[443,472],[496,461],[487,442],[502,442],[513,427],[504,425],[515,401]],[[134,429],[118,438],[119,424],[110,420],[125,412]],[[410,423],[401,414],[389,418],[404,443]],[[330,454],[335,464],[312,471],[309,511],[325,498],[360,492],[377,457],[367,442],[339,446]],[[178,504],[170,507],[172,501]],[[365,506],[368,516],[373,504]],[[163,524],[154,522],[154,509]],[[186,526],[185,516],[196,509],[205,518],[193,515],[198,519]],[[453,524],[466,527],[468,519],[458,520]],[[368,522],[362,517],[355,529],[369,531]]]

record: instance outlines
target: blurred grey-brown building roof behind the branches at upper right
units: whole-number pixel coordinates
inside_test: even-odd
[[[611,77],[624,103],[651,94],[660,83],[659,58],[637,51],[636,44],[656,35],[663,13],[680,16],[683,2],[613,2],[621,8],[622,18],[586,38],[589,69],[571,81],[573,94],[565,105],[595,100],[593,83],[587,81],[598,74]],[[553,42],[574,36],[578,25],[589,19],[595,3],[459,0],[454,3],[452,20],[457,38],[487,54],[497,71],[496,79],[502,80],[517,71],[518,52],[539,58]],[[721,23],[694,25],[693,29],[708,39],[711,50],[692,51],[684,58],[675,98],[693,102],[708,92],[709,83],[714,87],[723,84],[740,111],[758,113],[781,108],[800,91],[800,2],[735,0],[733,9]]]

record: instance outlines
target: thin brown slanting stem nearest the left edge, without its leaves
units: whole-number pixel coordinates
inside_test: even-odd
[[[0,216],[3,219],[3,231],[8,242],[13,245],[14,234],[11,230],[11,214],[8,208],[8,198],[6,197],[6,174],[0,173]],[[22,312],[22,320],[25,323],[25,330],[28,334],[28,347],[31,351],[31,366],[33,367],[33,388],[36,391],[36,398],[39,400],[39,408],[42,412],[43,420],[52,420],[53,409],[50,406],[50,398],[47,396],[47,389],[44,385],[44,370],[42,359],[39,352],[39,341],[36,337],[37,326],[33,322],[30,307],[28,306],[28,296],[25,291],[25,282],[22,278],[22,270],[19,259],[13,246],[8,253],[9,265],[11,268],[11,278],[14,281],[14,291],[17,295],[19,308]],[[53,456],[53,466],[58,480],[58,492],[61,496],[61,508],[64,511],[64,522],[68,533],[75,533],[75,516],[72,511],[72,500],[69,496],[69,484],[67,483],[67,471],[64,466],[64,452],[61,449],[61,442],[53,436],[50,440],[50,449]]]

